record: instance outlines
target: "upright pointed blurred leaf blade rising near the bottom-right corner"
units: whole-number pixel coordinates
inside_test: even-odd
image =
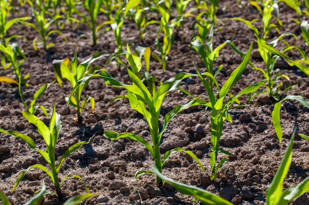
[[[293,149],[293,141],[295,136],[296,129],[294,129],[291,142],[285,151],[282,162],[277,170],[275,176],[273,177],[270,187],[266,193],[266,204],[267,205],[280,205],[279,202],[282,200],[282,190],[283,190],[283,182],[284,178],[287,175],[291,161],[292,161],[292,149]]]

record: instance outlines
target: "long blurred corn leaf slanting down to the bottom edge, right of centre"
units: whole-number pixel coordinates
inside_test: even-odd
[[[154,174],[156,176],[159,176],[163,180],[164,183],[171,184],[180,193],[193,196],[194,199],[199,200],[205,205],[232,205],[231,202],[228,202],[227,200],[211,192],[208,192],[201,188],[197,188],[194,186],[189,186],[183,183],[176,182],[173,179],[162,175],[161,172],[159,172],[159,170],[154,165],[150,165],[150,167],[154,171]]]

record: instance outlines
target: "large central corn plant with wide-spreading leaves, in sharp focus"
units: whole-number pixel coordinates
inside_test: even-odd
[[[120,62],[121,63],[121,62]],[[125,64],[123,64],[125,66]],[[181,112],[182,110],[185,110],[191,106],[203,104],[203,100],[195,99],[193,101],[190,101],[187,104],[184,105],[178,105],[172,109],[171,112],[165,115],[163,127],[161,130],[159,130],[159,117],[160,117],[160,110],[162,107],[163,100],[168,92],[177,89],[180,86],[180,83],[183,79],[187,77],[193,76],[193,74],[187,74],[187,73],[179,73],[172,77],[170,80],[165,81],[160,85],[160,87],[155,90],[154,94],[151,94],[148,88],[144,85],[144,83],[140,80],[140,78],[134,74],[129,68],[127,68],[127,71],[129,73],[129,77],[131,81],[133,82],[132,85],[126,85],[123,84],[116,79],[114,79],[109,73],[106,71],[103,71],[99,74],[92,75],[92,76],[86,76],[84,79],[81,79],[77,82],[77,85],[73,89],[72,93],[75,92],[76,89],[78,89],[79,86],[83,86],[83,83],[85,80],[87,80],[90,77],[102,77],[104,81],[107,84],[110,84],[114,87],[120,87],[125,88],[128,91],[128,99],[130,106],[133,110],[136,110],[140,114],[143,115],[145,120],[148,123],[149,130],[152,136],[152,144],[148,141],[146,141],[144,138],[142,138],[139,135],[135,135],[129,132],[123,132],[123,133],[117,133],[114,131],[105,131],[104,136],[111,139],[111,140],[118,140],[121,138],[129,138],[131,140],[138,141],[142,145],[144,145],[151,155],[154,157],[154,163],[156,168],[159,170],[159,172],[162,172],[163,165],[168,160],[170,155],[174,152],[181,151],[189,154],[191,157],[193,157],[194,160],[197,161],[197,163],[201,166],[201,168],[204,170],[203,165],[199,161],[199,159],[195,156],[195,154],[190,150],[185,150],[183,148],[177,147],[172,150],[169,150],[164,153],[164,156],[161,157],[160,153],[160,144],[162,141],[162,137],[164,132],[167,129],[168,123],[170,120],[176,116],[177,113]],[[135,178],[137,179],[138,176],[143,174],[154,174],[153,172],[149,170],[142,170],[136,173]],[[158,185],[162,185],[162,179],[157,176],[156,182]]]

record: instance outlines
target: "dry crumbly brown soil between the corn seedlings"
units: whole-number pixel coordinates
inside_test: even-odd
[[[192,1],[193,2],[193,1]],[[225,0],[220,2],[218,15],[218,28],[214,33],[214,47],[226,40],[232,40],[238,48],[246,52],[249,48],[253,32],[243,23],[228,20],[231,17],[241,17],[247,20],[260,18],[259,11],[253,6],[247,6],[247,1],[239,4],[236,0]],[[193,3],[189,6],[192,7]],[[80,7],[80,9],[82,9]],[[22,16],[30,16],[30,9],[20,9]],[[175,11],[174,11],[175,12]],[[152,17],[157,18],[157,17]],[[286,37],[291,45],[303,48],[306,53],[309,47],[301,37],[300,27],[293,21],[297,19],[296,12],[284,3],[279,3],[279,18],[283,23],[280,32],[289,31],[295,33],[298,40],[293,37]],[[100,15],[99,22],[105,17]],[[194,61],[202,71],[203,64],[200,63],[198,55],[189,46],[192,35],[193,19],[185,19],[184,29],[181,29],[175,38],[172,50],[169,54],[168,68],[161,70],[161,66],[154,59],[151,59],[151,73],[162,82],[180,71],[195,72]],[[256,25],[259,25],[258,23]],[[260,25],[261,27],[261,25]],[[123,27],[124,40],[134,42],[137,45],[149,46],[155,51],[154,39],[157,25],[150,25],[147,29],[145,41],[139,38],[138,30],[134,21],[126,21]],[[55,80],[53,73],[53,59],[73,58],[77,47],[78,61],[87,59],[91,54],[99,51],[113,53],[116,49],[114,34],[112,31],[102,33],[99,36],[98,45],[92,46],[90,39],[80,38],[80,35],[91,36],[90,29],[85,23],[80,23],[75,30],[68,25],[62,30],[68,38],[67,41],[60,35],[52,35],[49,39],[55,46],[44,51],[38,44],[39,51],[35,51],[32,40],[38,34],[27,26],[14,26],[10,34],[20,34],[28,39],[16,39],[16,43],[24,50],[28,61],[23,63],[23,74],[30,74],[29,87],[23,88],[27,91],[25,99],[30,104],[35,91],[44,83]],[[270,40],[278,36],[274,31],[270,34]],[[282,45],[281,45],[282,46]],[[280,48],[280,46],[279,46]],[[258,55],[257,45],[254,45],[251,60],[263,69],[265,65]],[[297,52],[289,52],[293,59],[299,59]],[[96,61],[104,67],[106,59]],[[223,64],[224,67],[217,76],[219,85],[228,79],[232,70],[241,62],[241,57],[236,54],[228,45],[220,52],[215,66]],[[290,67],[285,61],[279,59],[276,67],[280,68],[282,74],[289,76],[290,82],[282,80],[285,84],[295,84],[287,94],[302,95],[309,99],[309,79],[297,68]],[[110,63],[105,68],[116,79],[129,83],[128,74],[121,67],[120,72],[116,63]],[[144,68],[143,68],[144,69]],[[0,70],[0,76],[14,77],[10,69]],[[263,80],[263,75],[249,67],[244,72],[241,80],[232,89],[233,93],[239,92],[242,88]],[[194,95],[204,95],[199,79],[189,79],[182,83],[181,88],[191,91]],[[149,163],[154,163],[151,154],[138,142],[121,139],[111,141],[103,136],[105,130],[116,132],[132,132],[143,136],[151,141],[150,132],[146,121],[136,111],[130,108],[127,100],[118,100],[109,104],[109,101],[118,94],[125,94],[126,91],[119,88],[105,87],[102,79],[93,78],[84,91],[85,95],[95,98],[95,113],[91,113],[90,105],[82,112],[83,119],[76,122],[76,110],[67,107],[65,97],[70,94],[71,85],[64,81],[60,89],[57,83],[48,88],[44,95],[39,98],[38,104],[45,106],[49,111],[53,102],[56,103],[56,111],[61,114],[62,130],[56,147],[56,155],[59,157],[64,151],[79,141],[86,141],[95,135],[93,141],[83,146],[72,154],[63,164],[60,171],[60,178],[69,174],[78,174],[88,185],[91,192],[100,192],[100,199],[93,197],[82,204],[95,205],[192,205],[193,198],[179,194],[175,189],[164,184],[158,187],[155,184],[154,176],[141,176],[140,184],[135,182],[134,175],[142,169],[150,169]],[[190,100],[190,97],[179,90],[168,94],[161,110],[162,117],[174,106],[183,104]],[[241,99],[242,104],[247,104],[248,96]],[[279,167],[287,145],[290,142],[290,135],[294,126],[298,127],[299,133],[309,134],[309,109],[296,101],[285,101],[282,104],[281,122],[283,127],[283,139],[279,143],[271,120],[271,111],[274,101],[267,96],[260,95],[253,99],[250,105],[241,108],[232,108],[230,115],[233,122],[226,122],[220,146],[232,153],[230,161],[219,171],[218,177],[211,181],[209,177],[209,151],[211,150],[211,125],[210,113],[203,107],[193,107],[183,111],[173,118],[161,143],[161,153],[175,147],[183,147],[192,150],[205,167],[205,172],[184,153],[175,153],[166,163],[163,174],[176,181],[194,185],[231,201],[234,205],[265,205],[266,190]],[[0,84],[0,127],[22,132],[34,139],[39,147],[44,147],[44,141],[37,132],[35,126],[30,124],[22,116],[24,109],[16,85]],[[46,124],[49,119],[38,110],[37,116]],[[163,119],[163,118],[161,118]],[[284,187],[299,183],[309,176],[309,142],[296,137],[293,146],[293,159],[289,173],[285,179]],[[219,155],[219,158],[225,155]],[[40,170],[29,171],[20,182],[14,193],[10,193],[18,175],[23,169],[30,165],[42,163],[44,159],[29,146],[14,137],[1,134],[0,136],[0,189],[8,196],[14,205],[22,205],[35,195],[40,189],[42,180],[45,181],[47,189],[54,190],[54,187]],[[63,183],[64,198],[85,193],[81,181],[69,178]],[[43,205],[61,205],[54,195],[45,196]],[[100,203],[101,202],[101,203]],[[309,193],[299,197],[292,205],[308,205]]]

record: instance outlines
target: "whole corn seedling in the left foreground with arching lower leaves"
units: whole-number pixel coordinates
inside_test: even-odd
[[[51,113],[51,118],[50,118],[50,124],[49,124],[49,128],[35,115],[32,115],[26,111],[23,111],[23,116],[32,124],[36,125],[39,131],[39,134],[42,136],[45,145],[46,145],[46,151],[39,149],[39,147],[36,146],[35,142],[33,141],[33,139],[27,135],[24,135],[22,133],[13,131],[13,130],[3,130],[0,129],[0,132],[5,133],[7,135],[11,135],[13,137],[17,137],[20,138],[22,140],[24,140],[26,143],[28,143],[28,145],[37,150],[39,152],[39,154],[45,159],[45,161],[48,163],[50,170],[48,170],[45,166],[43,166],[42,164],[35,164],[32,165],[30,167],[28,167],[26,170],[22,171],[20,173],[20,175],[17,178],[16,183],[14,184],[14,187],[12,188],[12,192],[16,189],[16,187],[18,186],[18,184],[20,183],[20,181],[23,179],[23,177],[26,175],[26,173],[31,170],[31,169],[35,169],[38,168],[40,170],[42,170],[44,173],[47,174],[47,176],[50,177],[50,179],[52,180],[52,182],[55,185],[56,188],[56,194],[57,197],[59,199],[62,199],[63,195],[62,195],[62,191],[61,191],[61,185],[63,183],[63,181],[68,178],[68,177],[76,177],[78,179],[80,179],[84,186],[85,189],[87,190],[87,192],[89,193],[89,189],[87,188],[85,182],[81,179],[80,176],[77,175],[70,175],[70,176],[66,176],[62,182],[60,183],[58,174],[59,171],[61,169],[61,166],[63,164],[63,162],[66,160],[66,158],[71,155],[73,152],[75,152],[77,149],[79,149],[81,146],[88,144],[91,139],[89,141],[82,141],[82,142],[78,142],[73,146],[70,146],[63,154],[63,156],[58,160],[58,164],[56,164],[56,157],[55,157],[55,148],[57,145],[57,141],[58,141],[58,137],[59,137],[59,132],[61,130],[61,119],[60,119],[60,115],[58,115],[56,113],[56,107],[54,104],[54,108],[52,110]]]

